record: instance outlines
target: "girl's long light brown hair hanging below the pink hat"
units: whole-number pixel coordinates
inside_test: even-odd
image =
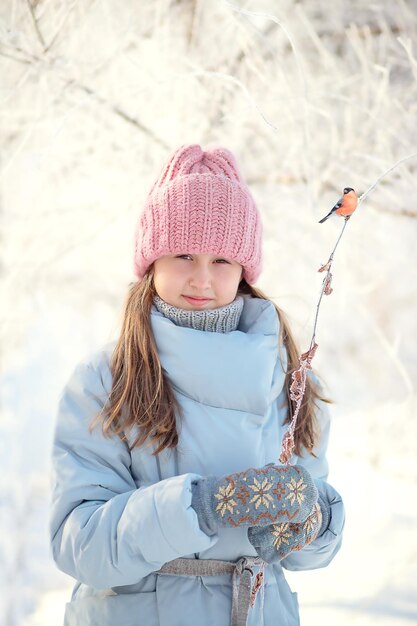
[[[238,293],[268,300],[258,288],[242,280]],[[120,337],[111,358],[112,389],[101,413],[91,428],[102,421],[106,436],[117,435],[127,441],[127,434],[137,427],[138,434],[130,448],[156,444],[153,454],[178,444],[177,420],[181,407],[171,383],[162,369],[150,323],[153,298],[156,295],[152,269],[145,277],[130,285],[124,306]],[[284,313],[274,304],[280,321],[279,346],[285,346],[288,367],[285,378],[288,400],[286,423],[291,420],[294,406],[289,397],[291,374],[297,369],[299,352]],[[308,380],[303,404],[294,432],[295,453],[302,449],[313,453],[317,441],[316,402],[322,398],[316,385]],[[326,400],[325,400],[326,401]]]

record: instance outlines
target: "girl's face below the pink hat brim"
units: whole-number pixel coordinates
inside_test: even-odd
[[[243,268],[211,254],[174,254],[153,265],[155,289],[168,304],[187,311],[216,309],[236,298]]]

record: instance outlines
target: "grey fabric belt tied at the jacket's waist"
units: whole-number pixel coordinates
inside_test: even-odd
[[[243,556],[238,561],[219,561],[217,559],[175,559],[161,567],[155,574],[174,576],[218,576],[232,574],[232,613],[230,626],[246,626],[249,607],[253,606],[257,591],[262,585],[263,568],[257,574],[252,586],[252,568],[263,566],[260,557]],[[240,576],[239,585],[237,582]]]

